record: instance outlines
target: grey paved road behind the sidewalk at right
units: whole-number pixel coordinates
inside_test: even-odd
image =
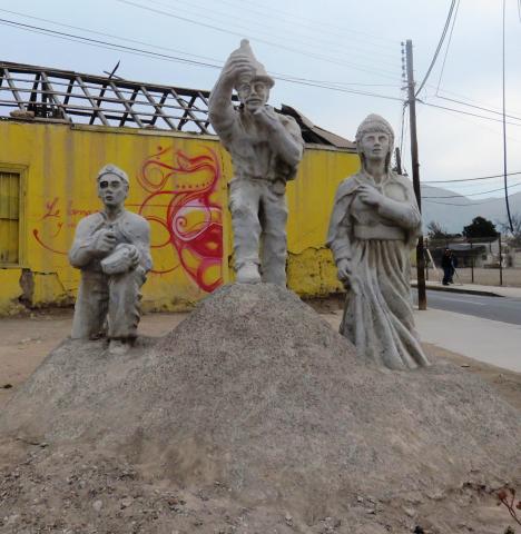
[[[417,303],[416,289],[413,289]],[[427,307],[521,325],[521,299],[427,290]]]

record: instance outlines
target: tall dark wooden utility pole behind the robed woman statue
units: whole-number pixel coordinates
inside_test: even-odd
[[[407,63],[407,103],[411,130],[411,162],[413,174],[413,187],[416,195],[416,202],[422,210],[422,194],[420,190],[420,162],[417,160],[417,137],[416,137],[416,97],[414,95],[414,70],[412,41],[407,39],[405,47]],[[416,280],[417,280],[417,309],[426,309],[425,291],[425,257],[423,255],[423,236],[420,236],[416,245]]]

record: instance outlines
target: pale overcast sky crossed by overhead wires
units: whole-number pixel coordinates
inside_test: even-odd
[[[512,123],[507,131],[509,172],[521,171],[518,2],[505,0],[507,112],[518,117],[509,119]],[[0,18],[213,65],[222,65],[237,48],[240,37],[247,37],[269,72],[342,89],[277,80],[271,103],[293,106],[316,125],[348,139],[354,138],[366,115],[376,112],[394,126],[400,142],[405,96],[401,89],[401,41],[412,39],[415,77],[421,81],[450,6],[450,0],[0,0]],[[121,60],[118,75],[124,78],[199,89],[210,89],[218,75],[215,68],[80,44],[0,23],[1,59],[6,61],[102,75]],[[448,41],[449,38],[421,100],[499,121],[419,103],[419,150],[424,182],[503,171],[501,115],[446,100],[501,111],[502,0],[460,0],[445,59]],[[409,127],[403,149],[405,168],[410,170]],[[521,191],[521,174],[512,176],[510,184],[512,194]],[[498,178],[443,187],[475,194],[501,185],[502,179]],[[501,192],[472,198],[490,195]]]

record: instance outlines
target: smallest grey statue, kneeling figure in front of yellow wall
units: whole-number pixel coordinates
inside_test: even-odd
[[[110,353],[124,354],[137,336],[140,287],[151,269],[150,228],[124,207],[126,172],[106,165],[97,182],[105,209],[79,221],[69,250],[70,264],[81,269],[71,337],[94,339],[106,333]]]

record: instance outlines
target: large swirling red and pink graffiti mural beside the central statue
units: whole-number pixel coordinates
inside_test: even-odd
[[[153,250],[169,247],[168,265],[156,263],[154,273],[181,267],[205,291],[223,284],[223,208],[217,190],[220,166],[217,155],[189,157],[176,148],[158,147],[138,176],[148,192],[139,214],[151,225]]]

